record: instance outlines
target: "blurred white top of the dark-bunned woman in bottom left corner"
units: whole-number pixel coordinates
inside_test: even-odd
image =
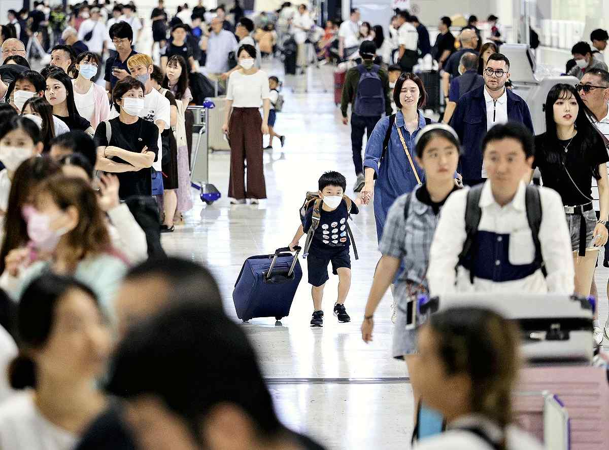
[[[0,405],[0,448],[71,450],[78,437],[48,421],[38,411],[31,391],[19,392]]]

